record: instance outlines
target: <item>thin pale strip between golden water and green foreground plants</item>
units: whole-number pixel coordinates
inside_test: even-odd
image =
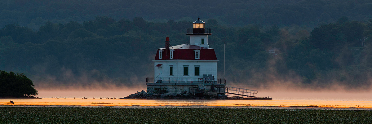
[[[0,105],[0,108],[9,107],[60,107],[60,108],[226,108],[226,109],[311,109],[311,110],[368,110],[372,111],[372,108],[357,108],[357,107],[319,107],[319,106],[208,106],[208,105],[186,105],[186,106],[174,106],[174,105],[156,105],[156,106],[141,106],[141,105],[128,105],[128,106],[106,106],[106,105]]]

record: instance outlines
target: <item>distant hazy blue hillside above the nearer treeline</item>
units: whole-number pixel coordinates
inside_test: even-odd
[[[18,23],[35,31],[45,22],[68,23],[142,17],[152,22],[216,19],[222,25],[318,26],[372,18],[371,0],[0,0],[0,27]]]

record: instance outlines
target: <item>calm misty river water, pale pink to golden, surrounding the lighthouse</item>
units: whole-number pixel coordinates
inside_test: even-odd
[[[81,105],[81,106],[320,106],[337,108],[372,108],[371,92],[259,92],[257,96],[272,101],[246,100],[137,100],[122,98],[137,90],[41,90],[42,99],[0,99],[0,105]],[[58,97],[59,99],[52,99]],[[64,99],[63,97],[67,97]],[[76,99],[74,99],[74,97]],[[88,97],[88,99],[82,99]],[[95,99],[93,99],[93,97]],[[102,99],[99,99],[102,98]],[[103,103],[103,104],[98,104]]]

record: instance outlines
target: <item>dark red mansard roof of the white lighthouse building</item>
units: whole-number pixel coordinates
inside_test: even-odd
[[[155,55],[155,60],[159,59],[159,50],[165,50],[165,48],[160,48],[157,50]],[[216,53],[212,48],[204,48],[199,47],[196,45],[189,45],[189,44],[181,44],[173,47],[169,47],[169,49],[174,49],[173,52],[173,60],[195,60],[195,52],[194,50],[200,50],[200,59],[199,60],[217,60]],[[161,60],[170,60],[168,51],[168,55],[165,54],[166,52],[163,51],[163,55]]]

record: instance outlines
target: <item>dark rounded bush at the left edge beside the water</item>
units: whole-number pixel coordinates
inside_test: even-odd
[[[25,74],[15,74],[0,70],[0,97],[35,96],[38,91],[34,89],[32,80]]]

